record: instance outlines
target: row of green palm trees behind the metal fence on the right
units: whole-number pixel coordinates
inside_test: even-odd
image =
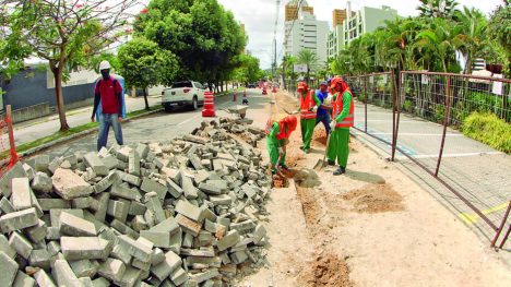
[[[384,27],[352,40],[329,62],[330,73],[357,75],[391,70],[459,73],[462,69],[456,51],[466,60],[465,73],[472,72],[474,59],[479,57],[509,67],[509,5],[495,13],[499,25],[488,24],[479,10],[466,7],[457,10],[456,5],[452,0],[423,0],[419,7],[423,16],[385,21]],[[496,39],[498,36],[489,37],[488,31],[498,31],[495,35],[500,35],[501,40]]]

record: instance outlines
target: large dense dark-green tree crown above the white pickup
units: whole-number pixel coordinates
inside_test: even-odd
[[[201,82],[227,80],[246,45],[233,13],[216,0],[152,0],[134,28],[176,55],[181,77]]]

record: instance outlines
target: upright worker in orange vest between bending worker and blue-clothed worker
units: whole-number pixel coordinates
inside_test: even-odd
[[[316,111],[321,101],[316,96],[313,91],[310,91],[306,82],[298,83],[298,94],[300,97],[300,127],[301,127],[301,141],[304,145],[300,147],[306,154],[310,151],[310,142],[316,127]]]

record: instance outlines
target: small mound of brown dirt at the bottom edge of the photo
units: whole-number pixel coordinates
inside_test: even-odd
[[[308,264],[301,279],[307,286],[352,287],[346,261],[331,253],[316,256]]]

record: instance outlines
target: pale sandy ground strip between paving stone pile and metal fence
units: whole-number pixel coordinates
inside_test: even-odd
[[[298,107],[282,92],[276,100],[280,117]],[[271,111],[252,115],[254,124]],[[321,129],[310,154],[299,150],[299,127],[292,134],[289,187],[273,189],[268,205],[266,267],[239,286],[509,286],[510,268],[488,242],[356,139],[347,174],[326,167],[309,186],[302,170],[323,157]]]

